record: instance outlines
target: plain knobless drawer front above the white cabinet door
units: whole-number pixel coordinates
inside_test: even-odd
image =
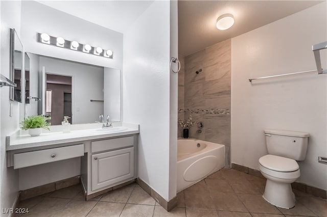
[[[91,142],[91,152],[101,152],[111,149],[124,148],[134,145],[134,137],[123,137],[110,140],[101,140],[96,142]]]

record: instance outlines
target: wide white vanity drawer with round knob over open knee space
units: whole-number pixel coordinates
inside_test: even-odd
[[[84,156],[84,144],[14,154],[14,169]]]

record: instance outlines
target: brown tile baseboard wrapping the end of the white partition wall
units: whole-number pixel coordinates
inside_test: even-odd
[[[145,181],[137,178],[137,184],[141,186],[156,202],[158,202],[168,212],[177,206],[177,196],[170,201],[165,200],[158,193],[154,191]]]

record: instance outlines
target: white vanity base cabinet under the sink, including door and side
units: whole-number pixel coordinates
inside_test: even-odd
[[[89,198],[88,195],[106,191],[110,187],[135,179],[136,154],[137,134],[91,141],[90,152],[81,158],[81,180],[87,194],[86,198]]]

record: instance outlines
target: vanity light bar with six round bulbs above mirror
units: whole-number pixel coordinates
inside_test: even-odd
[[[101,47],[92,47],[89,44],[80,44],[77,41],[68,41],[61,37],[49,36],[46,33],[37,33],[37,42],[113,59],[113,52],[111,50],[105,50]]]

